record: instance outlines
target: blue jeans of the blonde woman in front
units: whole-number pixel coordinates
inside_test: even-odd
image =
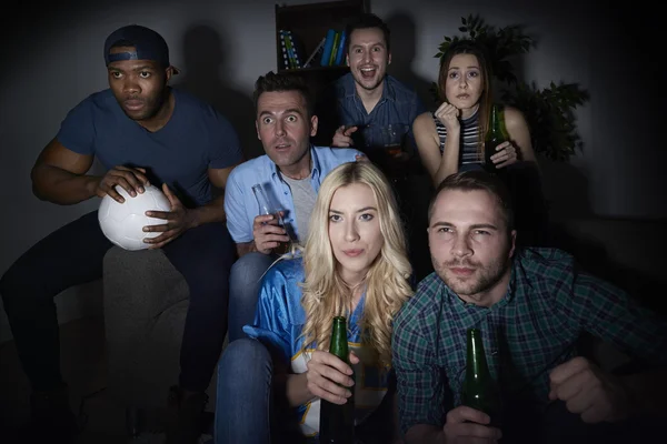
[[[283,393],[272,390],[273,361],[259,341],[243,337],[230,343],[218,364],[215,444],[310,444],[301,435]],[[375,412],[356,426],[357,442],[387,444],[395,430],[395,379]]]

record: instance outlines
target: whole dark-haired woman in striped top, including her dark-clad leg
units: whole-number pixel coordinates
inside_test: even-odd
[[[412,123],[421,162],[434,185],[459,171],[485,169],[484,138],[489,128],[491,72],[482,48],[459,40],[440,61],[438,88],[444,103]],[[496,147],[491,161],[509,189],[521,246],[548,242],[548,210],[528,123],[521,111],[500,107],[508,141]]]

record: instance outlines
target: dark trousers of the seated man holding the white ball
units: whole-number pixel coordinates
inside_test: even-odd
[[[101,279],[102,261],[111,246],[93,211],[39,241],[0,279],[19,359],[33,391],[49,392],[63,385],[53,297],[73,285]],[[223,223],[208,223],[183,232],[162,250],[190,289],[179,384],[203,392],[227,333],[233,242]]]

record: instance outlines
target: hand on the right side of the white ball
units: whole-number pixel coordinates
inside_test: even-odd
[[[160,249],[173,241],[186,230],[195,226],[195,215],[189,211],[181,201],[169,190],[166,183],[162,184],[162,191],[169,203],[171,204],[171,211],[147,211],[146,215],[149,218],[163,219],[167,223],[158,225],[146,225],[143,231],[147,233],[159,232],[162,233],[157,238],[146,238],[143,242],[149,243],[149,250]]]

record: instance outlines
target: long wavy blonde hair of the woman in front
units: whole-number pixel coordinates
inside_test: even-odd
[[[352,291],[337,272],[337,261],[329,240],[329,206],[338,189],[356,183],[365,184],[372,191],[384,238],[380,253],[365,279],[366,301],[359,326],[362,341],[378,352],[381,364],[390,365],[394,316],[412,295],[408,283],[412,269],[407,258],[406,236],[391,186],[377,167],[364,161],[334,169],[322,181],[315,202],[303,248],[301,304],[306,311],[306,324],[302,351],[313,342],[318,350],[328,350],[334,316],[349,317],[350,314]]]

